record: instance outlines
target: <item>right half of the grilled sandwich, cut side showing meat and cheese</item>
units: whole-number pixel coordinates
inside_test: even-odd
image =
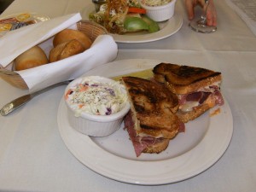
[[[153,73],[157,82],[166,84],[172,93],[177,94],[179,108],[176,114],[183,123],[196,119],[216,105],[224,104],[219,91],[221,73],[171,63],[158,64]]]

